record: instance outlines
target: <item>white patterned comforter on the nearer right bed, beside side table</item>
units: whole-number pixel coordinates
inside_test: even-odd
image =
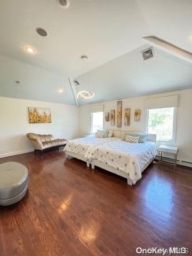
[[[96,159],[129,175],[135,184],[141,179],[145,165],[156,156],[156,145],[153,141],[129,143],[116,139],[92,148],[87,158]]]

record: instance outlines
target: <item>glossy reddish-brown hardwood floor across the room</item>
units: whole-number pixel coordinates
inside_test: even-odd
[[[192,170],[153,163],[135,186],[63,152],[1,158],[28,167],[26,196],[0,206],[0,255],[139,255],[191,249]]]

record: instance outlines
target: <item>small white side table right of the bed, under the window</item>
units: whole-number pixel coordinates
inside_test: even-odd
[[[160,145],[158,147],[158,161],[159,162],[165,162],[167,164],[174,165],[174,169],[177,166],[177,154],[178,154],[178,147],[177,146],[167,146],[167,145]],[[170,153],[174,155],[173,163],[166,162],[165,160],[162,161],[162,153]],[[171,160],[170,160],[171,161]]]

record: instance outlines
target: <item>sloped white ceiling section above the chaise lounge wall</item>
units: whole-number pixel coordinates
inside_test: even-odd
[[[15,83],[18,80],[21,84]],[[0,56],[0,96],[75,104],[68,77],[4,56]]]

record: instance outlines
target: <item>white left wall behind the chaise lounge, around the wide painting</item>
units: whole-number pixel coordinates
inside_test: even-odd
[[[28,107],[51,108],[52,122],[29,124]],[[78,137],[78,107],[60,103],[0,97],[0,157],[33,151],[26,134],[53,134],[55,138]]]

